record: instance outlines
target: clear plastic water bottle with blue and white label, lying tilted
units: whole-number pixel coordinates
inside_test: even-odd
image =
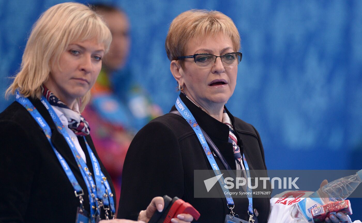
[[[328,202],[343,201],[362,182],[362,170],[356,174],[342,177],[328,184],[311,194],[306,199],[296,203],[291,207],[291,216],[294,219],[304,219],[313,222],[311,210],[327,204]]]

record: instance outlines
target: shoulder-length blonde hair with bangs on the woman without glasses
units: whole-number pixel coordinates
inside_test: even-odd
[[[104,44],[107,52],[112,35],[102,18],[88,6],[62,3],[49,8],[33,25],[20,71],[5,96],[14,94],[18,89],[24,97],[40,99],[41,85],[48,80],[51,66],[59,66],[60,56],[68,45],[94,38]],[[77,99],[80,111],[83,111],[89,100],[90,91]]]

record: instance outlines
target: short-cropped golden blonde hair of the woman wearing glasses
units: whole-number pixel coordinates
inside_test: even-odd
[[[239,31],[230,17],[218,11],[192,9],[179,14],[172,21],[167,33],[165,48],[169,60],[177,60],[184,55],[188,41],[197,37],[202,41],[206,35],[215,35],[219,32],[231,38],[234,51],[240,49]],[[184,60],[180,60],[184,68]]]

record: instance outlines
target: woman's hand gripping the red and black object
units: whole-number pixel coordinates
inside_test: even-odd
[[[148,222],[153,213],[155,211],[161,212],[164,207],[164,201],[163,197],[155,197],[152,199],[150,205],[148,205],[147,209],[145,211],[142,211],[140,214],[139,220],[142,220],[144,222]],[[177,215],[177,218],[171,219],[172,223],[187,223],[191,222],[194,218],[190,214],[179,214]]]

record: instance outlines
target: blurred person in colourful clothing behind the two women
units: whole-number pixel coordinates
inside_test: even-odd
[[[162,112],[125,68],[130,50],[130,23],[125,12],[104,4],[92,8],[108,25],[112,42],[83,116],[90,122],[97,152],[120,191],[123,161],[135,132]]]

